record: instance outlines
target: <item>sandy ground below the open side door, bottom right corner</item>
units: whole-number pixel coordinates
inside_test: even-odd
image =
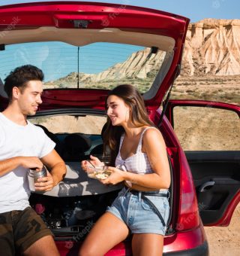
[[[228,227],[205,227],[210,256],[240,255],[240,203]]]

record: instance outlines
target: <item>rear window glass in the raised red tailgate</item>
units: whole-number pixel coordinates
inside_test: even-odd
[[[13,44],[0,51],[0,78],[4,81],[17,66],[31,64],[43,70],[45,89],[111,89],[118,84],[133,84],[145,93],[154,83],[165,56],[166,52],[156,47],[130,44]]]

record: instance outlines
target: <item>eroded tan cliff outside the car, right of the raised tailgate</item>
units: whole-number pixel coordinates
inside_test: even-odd
[[[240,75],[240,20],[191,23],[181,75]]]

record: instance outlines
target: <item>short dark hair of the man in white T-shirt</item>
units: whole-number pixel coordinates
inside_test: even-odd
[[[43,81],[43,72],[35,66],[20,66],[7,75],[5,78],[5,92],[11,100],[13,96],[13,87],[20,88],[21,92],[26,88],[28,81]]]

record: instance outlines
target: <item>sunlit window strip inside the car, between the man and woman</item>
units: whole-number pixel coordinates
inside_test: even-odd
[[[29,119],[31,123],[46,127],[51,133],[84,133],[89,135],[101,135],[107,117],[97,115],[56,115],[47,117],[34,117]]]

